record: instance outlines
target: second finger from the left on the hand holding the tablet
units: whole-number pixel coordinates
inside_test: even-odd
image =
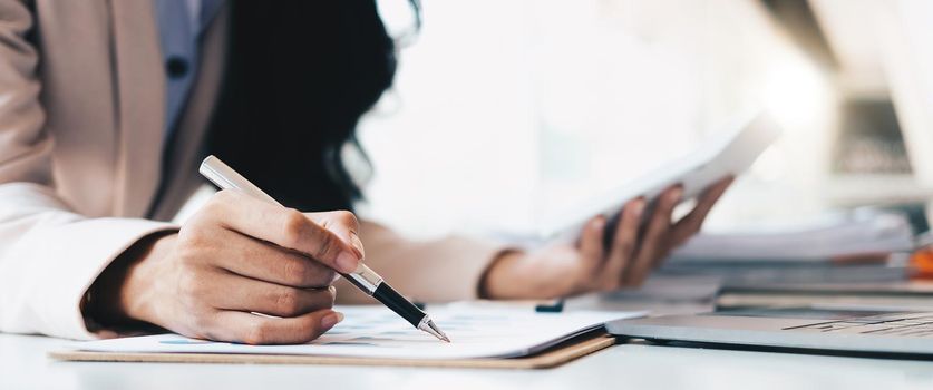
[[[622,209],[619,225],[610,244],[609,257],[600,277],[602,290],[611,291],[620,287],[623,273],[634,256],[643,212],[644,199],[641,198],[629,202]]]

